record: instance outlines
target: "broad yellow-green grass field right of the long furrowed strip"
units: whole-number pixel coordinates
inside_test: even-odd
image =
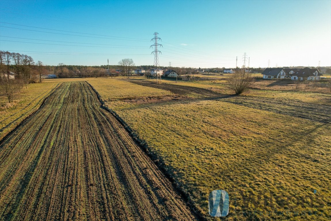
[[[126,84],[146,87],[146,80],[139,81]],[[244,96],[222,97],[231,92],[218,81],[163,82],[183,87],[160,86],[176,99],[105,101],[160,157],[206,219],[214,219],[207,200],[216,189],[227,191],[232,200],[226,220],[330,219],[330,94],[253,89]],[[113,93],[99,89],[101,82],[90,83],[102,97]],[[191,87],[224,93],[221,98],[197,96]],[[256,201],[262,195],[259,204],[251,200],[246,205],[243,198],[250,193]],[[282,207],[281,199],[290,196],[305,200],[294,206],[290,198]],[[313,199],[311,206],[307,197]]]

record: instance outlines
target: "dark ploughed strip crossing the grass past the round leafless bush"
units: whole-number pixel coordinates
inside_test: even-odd
[[[197,87],[189,87],[183,85],[174,85],[174,84],[153,84],[151,82],[142,81],[142,80],[133,80],[132,82],[143,85],[146,87],[160,88],[163,90],[171,91],[172,93],[181,95],[181,96],[195,96],[199,94],[203,96],[203,98],[188,98],[184,97],[184,101],[186,102],[195,102],[200,100],[208,100],[206,97],[212,97],[211,100],[221,100],[224,102],[229,102],[232,104],[242,105],[249,108],[255,108],[264,111],[271,111],[275,113],[281,113],[284,115],[296,116],[301,118],[306,118],[318,122],[331,122],[330,120],[330,112],[331,106],[329,104],[316,104],[316,103],[308,103],[302,102],[293,99],[279,99],[279,98],[267,98],[267,97],[257,97],[257,96],[230,96],[230,95],[222,95],[216,92],[213,92],[208,89],[197,88]],[[326,99],[331,101],[330,95],[324,95]],[[176,100],[165,100],[166,103],[175,103],[180,101],[181,99]],[[162,105],[162,101],[158,101],[157,105]],[[318,110],[318,113],[316,112]]]

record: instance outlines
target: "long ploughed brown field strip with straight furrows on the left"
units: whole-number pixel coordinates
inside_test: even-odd
[[[63,83],[0,142],[0,220],[195,219],[85,82]]]

